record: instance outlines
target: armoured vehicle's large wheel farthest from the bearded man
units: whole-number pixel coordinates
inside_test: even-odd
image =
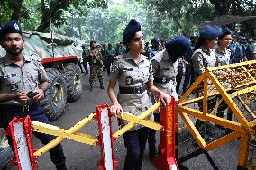
[[[65,74],[68,101],[77,101],[82,94],[81,71],[78,65],[69,63],[65,66]]]

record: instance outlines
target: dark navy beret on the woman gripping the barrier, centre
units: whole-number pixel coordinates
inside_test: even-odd
[[[123,44],[127,44],[133,40],[137,31],[141,31],[141,25],[139,22],[132,19],[123,31]]]

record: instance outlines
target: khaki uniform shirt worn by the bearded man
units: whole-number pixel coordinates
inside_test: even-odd
[[[0,58],[0,94],[34,91],[40,88],[41,83],[48,81],[38,55],[24,55],[23,60],[20,67],[6,56]],[[32,103],[32,100],[28,102]],[[23,105],[14,100],[0,104]]]

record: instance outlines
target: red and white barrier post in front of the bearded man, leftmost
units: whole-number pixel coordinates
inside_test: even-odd
[[[14,118],[5,134],[12,137],[15,163],[18,170],[37,170],[36,158],[33,157],[32,126],[29,116]]]

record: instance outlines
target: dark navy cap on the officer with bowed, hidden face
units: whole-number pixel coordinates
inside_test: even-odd
[[[173,40],[167,41],[165,44],[169,58],[180,57],[187,53],[191,49],[190,40],[185,36],[177,36]]]

